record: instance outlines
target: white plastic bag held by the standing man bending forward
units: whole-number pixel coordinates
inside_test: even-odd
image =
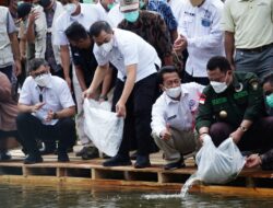
[[[123,118],[110,112],[108,102],[84,100],[84,131],[94,146],[107,155],[117,154],[123,135]]]

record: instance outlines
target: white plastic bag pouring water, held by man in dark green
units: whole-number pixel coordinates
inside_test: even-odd
[[[246,162],[232,138],[216,148],[210,136],[204,137],[203,147],[197,153],[195,161],[195,176],[207,184],[224,184],[235,180]]]

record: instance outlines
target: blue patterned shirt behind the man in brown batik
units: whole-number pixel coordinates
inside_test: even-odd
[[[178,23],[176,21],[176,18],[174,16],[169,4],[166,1],[149,0],[146,10],[158,12],[165,20],[169,31],[177,30]]]

